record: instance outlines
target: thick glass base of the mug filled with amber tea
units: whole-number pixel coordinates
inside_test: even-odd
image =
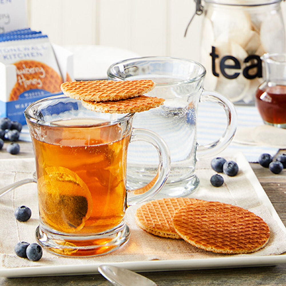
[[[82,236],[67,236],[43,228],[36,229],[36,238],[47,251],[67,257],[90,257],[109,253],[124,245],[130,237],[130,229],[124,223],[112,231]]]

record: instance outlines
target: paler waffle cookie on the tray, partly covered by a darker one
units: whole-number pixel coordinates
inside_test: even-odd
[[[192,198],[162,198],[146,202],[135,213],[136,224],[148,233],[160,237],[180,239],[173,227],[173,215],[186,204],[195,204],[201,200]]]

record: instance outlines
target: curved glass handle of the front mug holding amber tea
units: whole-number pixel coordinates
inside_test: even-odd
[[[159,165],[157,174],[146,186],[135,190],[127,190],[128,206],[144,202],[157,194],[164,186],[170,172],[170,151],[164,140],[151,130],[133,128],[130,143],[139,140],[148,142],[156,148],[159,156]]]

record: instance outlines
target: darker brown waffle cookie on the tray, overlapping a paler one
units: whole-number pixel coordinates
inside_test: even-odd
[[[268,225],[253,212],[221,202],[182,206],[174,229],[191,245],[215,253],[255,252],[269,240]]]

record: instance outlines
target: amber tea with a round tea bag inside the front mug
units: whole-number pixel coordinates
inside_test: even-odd
[[[118,125],[70,128],[74,120],[53,122],[61,124],[53,130],[43,126],[45,142],[32,138],[40,217],[61,233],[101,233],[124,217],[130,136],[122,138]],[[76,124],[81,120],[87,122]]]

